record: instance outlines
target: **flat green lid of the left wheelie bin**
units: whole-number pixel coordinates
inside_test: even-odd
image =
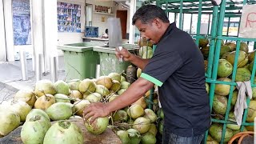
[[[74,51],[74,52],[85,52],[88,50],[93,50],[94,46],[105,46],[106,42],[81,42],[81,43],[71,43],[63,46],[57,46],[58,50],[63,51]]]

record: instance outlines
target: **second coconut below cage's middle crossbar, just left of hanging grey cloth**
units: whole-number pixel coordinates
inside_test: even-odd
[[[214,94],[213,109],[217,114],[226,114],[227,98]]]

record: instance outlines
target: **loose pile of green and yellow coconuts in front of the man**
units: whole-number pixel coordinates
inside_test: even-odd
[[[83,143],[78,126],[67,121],[82,118],[83,110],[93,102],[111,102],[130,86],[122,74],[111,73],[97,79],[74,79],[67,82],[41,80],[34,90],[19,90],[11,102],[0,105],[0,137],[22,126],[23,143]],[[84,122],[91,134],[102,134],[107,127],[122,143],[156,143],[158,133],[158,95],[154,95],[154,109],[147,108],[150,91],[144,97],[109,117]],[[51,122],[55,122],[51,124]]]

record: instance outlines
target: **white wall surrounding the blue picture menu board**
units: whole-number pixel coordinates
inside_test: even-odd
[[[58,45],[63,45],[66,43],[76,43],[82,42],[82,36],[85,30],[85,0],[58,0],[58,2],[67,2],[81,5],[81,33],[58,33]],[[57,7],[56,7],[57,9]],[[57,17],[57,15],[56,15]]]

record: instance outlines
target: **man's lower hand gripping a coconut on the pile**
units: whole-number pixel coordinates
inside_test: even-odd
[[[106,117],[109,114],[110,111],[108,111],[106,104],[102,102],[91,103],[83,110],[84,120],[86,121],[91,117],[90,123],[93,123],[98,117]]]

